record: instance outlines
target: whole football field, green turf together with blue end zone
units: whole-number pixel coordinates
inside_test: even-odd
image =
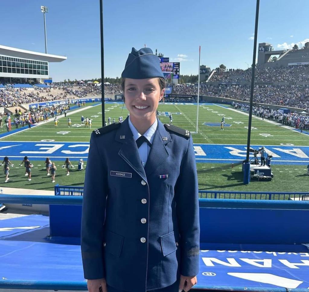
[[[199,123],[196,133],[196,104],[160,104],[159,119],[169,123],[169,114],[173,116],[173,124],[192,132],[196,153],[199,188],[203,190],[255,190],[255,191],[307,191],[309,176],[309,136],[307,133],[283,126],[281,124],[261,120],[253,116],[251,131],[251,147],[265,146],[273,155],[272,172],[274,178],[269,182],[251,182],[248,186],[242,183],[241,165],[232,168],[245,159],[248,114],[231,109],[229,106],[217,104],[200,104]],[[81,123],[81,116],[92,119],[92,129]],[[118,121],[119,116],[125,119],[128,111],[121,103],[105,104],[105,119],[111,117]],[[72,125],[68,127],[67,119]],[[222,117],[225,118],[224,130],[220,129]],[[52,190],[55,183],[60,185],[82,186],[84,171],[77,170],[80,158],[87,165],[87,152],[91,131],[102,127],[101,104],[87,103],[86,107],[73,109],[65,118],[59,119],[58,127],[53,119],[31,129],[25,128],[6,136],[5,128],[1,128],[0,155],[9,156],[14,167],[10,170],[10,180],[1,183],[8,187]],[[12,130],[14,127],[12,127]],[[309,134],[309,133],[308,133]],[[32,181],[24,176],[24,167],[19,166],[23,156],[28,156],[34,164]],[[56,162],[56,182],[46,176],[44,161],[49,157]],[[62,165],[69,157],[75,166],[66,176]],[[250,156],[251,157],[251,156]]]

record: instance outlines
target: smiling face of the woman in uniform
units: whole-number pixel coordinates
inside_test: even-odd
[[[160,90],[157,77],[125,78],[125,105],[130,116],[140,120],[154,119],[159,101],[163,98],[164,90]]]

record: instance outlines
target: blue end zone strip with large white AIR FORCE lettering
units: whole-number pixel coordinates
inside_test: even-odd
[[[251,145],[252,148],[257,149],[261,146],[264,145]],[[194,144],[193,147],[197,162],[232,163],[246,157],[245,145]],[[278,164],[309,163],[308,146],[266,145],[265,150],[273,156],[272,162]],[[0,142],[0,156],[10,158],[22,158],[27,155],[33,160],[42,160],[46,157],[87,159],[88,151],[88,142]],[[253,156],[252,153],[250,153],[251,156]],[[120,173],[117,169],[114,171]]]

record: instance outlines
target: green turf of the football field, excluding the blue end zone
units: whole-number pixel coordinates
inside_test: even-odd
[[[87,104],[89,106],[91,104]],[[171,112],[173,115],[173,124],[189,131],[194,132],[196,128],[196,105],[168,105],[160,104],[158,108],[160,113]],[[74,111],[73,111],[74,112]],[[181,114],[176,114],[181,113]],[[92,119],[92,129],[80,126],[81,115]],[[115,118],[118,121],[119,116],[125,119],[128,111],[122,104],[105,104],[105,120],[108,117]],[[225,127],[220,131],[219,127],[204,126],[205,122],[220,122],[222,115],[225,116],[225,122],[232,124],[231,127]],[[26,131],[2,138],[3,141],[42,141],[54,140],[57,142],[88,142],[91,131],[102,127],[102,108],[101,105],[84,107],[83,111],[70,115],[72,126],[67,125],[67,118],[60,118],[58,127],[55,128],[53,121],[42,124],[38,127],[27,129]],[[168,116],[159,116],[163,123],[168,123]],[[198,134],[193,133],[194,143],[209,144],[247,144],[248,115],[240,111],[233,111],[219,105],[200,105],[199,107],[199,125]],[[299,146],[309,146],[309,137],[298,132],[286,129],[282,126],[274,125],[267,121],[262,121],[253,117],[251,131],[251,145],[280,145],[292,143]],[[1,128],[0,131],[5,131]],[[260,134],[268,134],[265,135]],[[14,162],[18,165],[20,161]],[[44,161],[33,161],[35,164],[44,165]],[[57,161],[62,165],[63,161]],[[57,165],[56,164],[56,165]],[[205,171],[202,169],[211,169],[220,164],[197,163],[199,170],[199,188],[205,190],[239,190],[239,191],[307,191],[307,175],[305,165],[275,165],[272,170],[274,179],[270,182],[251,182],[248,186],[242,183],[243,175],[241,169],[225,169],[218,171]],[[41,167],[43,168],[43,166]],[[297,171],[294,169],[298,169]],[[72,169],[73,170],[73,169]],[[11,169],[11,180],[5,185],[11,187],[23,187],[32,189],[52,190],[53,183],[50,177],[46,177],[44,170],[38,167],[32,169],[33,179],[27,181],[23,176],[23,168]],[[289,171],[292,171],[291,173]],[[4,183],[4,175],[2,182]],[[58,169],[56,183],[60,185],[82,186],[84,172],[72,171],[70,176],[65,175],[65,170]]]

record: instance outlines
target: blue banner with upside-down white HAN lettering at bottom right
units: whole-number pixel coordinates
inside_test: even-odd
[[[262,291],[307,289],[308,274],[308,252],[201,250],[197,278],[200,286],[247,287],[248,291],[259,287]]]

